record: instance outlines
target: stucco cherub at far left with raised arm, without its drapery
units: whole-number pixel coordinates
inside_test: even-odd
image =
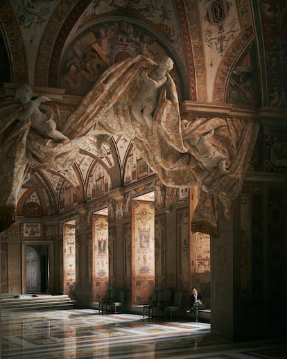
[[[40,96],[32,99],[33,91],[28,85],[17,87],[15,98],[17,98],[24,107],[24,111],[19,114],[20,121],[28,121],[31,119],[31,127],[43,137],[53,139],[55,141],[66,142],[69,139],[60,131],[56,130],[56,123],[52,119],[52,114],[47,116],[40,110],[42,102],[51,101],[47,96]]]

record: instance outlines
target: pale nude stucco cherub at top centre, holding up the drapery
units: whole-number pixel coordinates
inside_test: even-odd
[[[158,89],[168,80],[166,73],[173,69],[173,60],[168,56],[159,60],[150,75],[146,70],[141,72],[143,83],[139,87],[137,97],[132,101],[132,114],[141,125],[148,125],[150,133],[153,129],[153,111],[157,105]]]

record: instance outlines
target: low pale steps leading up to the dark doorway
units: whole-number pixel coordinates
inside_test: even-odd
[[[19,295],[1,298],[1,311],[72,309],[74,302],[68,295]]]

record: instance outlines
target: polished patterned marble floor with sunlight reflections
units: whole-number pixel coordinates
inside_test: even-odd
[[[202,322],[94,309],[3,311],[0,358],[287,359],[287,342],[233,342]]]

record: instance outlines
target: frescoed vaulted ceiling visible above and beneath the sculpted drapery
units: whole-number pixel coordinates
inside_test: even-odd
[[[112,64],[166,54],[181,102],[286,107],[286,20],[284,0],[3,0],[3,94],[21,83],[46,91],[62,106],[60,129],[63,109],[69,116]],[[101,151],[90,138],[69,170],[33,168],[20,207],[30,201],[58,213],[64,188],[87,201],[102,178],[107,190],[122,187],[139,159],[122,136]]]

